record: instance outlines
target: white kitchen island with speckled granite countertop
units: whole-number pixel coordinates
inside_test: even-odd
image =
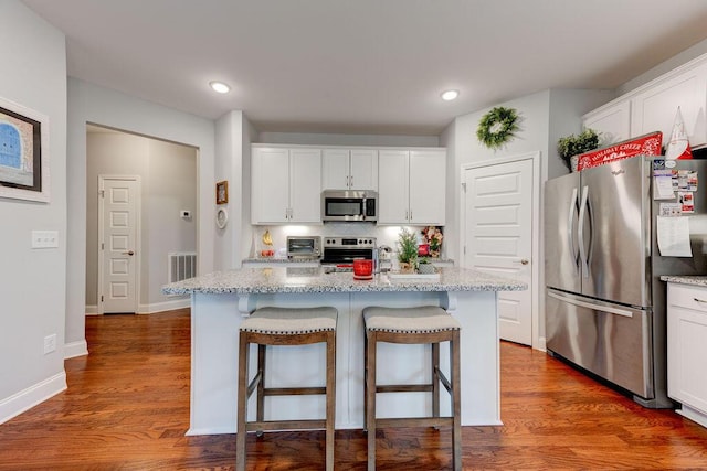
[[[350,272],[320,267],[244,268],[219,271],[167,285],[163,292],[191,295],[191,408],[188,435],[233,433],[236,424],[239,325],[265,306],[331,306],[338,310],[336,427],[363,427],[363,320],[367,306],[441,306],[462,324],[462,425],[499,425],[498,291],[527,289],[524,282],[463,268],[443,268],[439,278],[355,280]],[[429,345],[379,346],[386,363],[379,378],[414,383],[430,362]],[[443,368],[449,364],[442,349]],[[268,349],[271,385],[324,383],[323,345]],[[253,368],[254,366],[252,366]],[[282,381],[282,383],[277,383]],[[424,415],[429,395],[402,399],[380,395],[380,416]],[[390,400],[388,400],[390,399]],[[443,395],[443,399],[446,399]],[[449,408],[443,403],[443,411]],[[273,411],[275,414],[273,415]],[[265,418],[320,418],[324,398],[273,397]]]

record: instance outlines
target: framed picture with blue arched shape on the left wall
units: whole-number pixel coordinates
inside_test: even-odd
[[[0,98],[0,199],[49,203],[49,118]]]

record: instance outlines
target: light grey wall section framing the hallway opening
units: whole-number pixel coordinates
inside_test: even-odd
[[[86,122],[179,142],[198,149],[194,208],[199,272],[213,270],[214,124],[75,78],[68,79],[68,245],[66,342],[82,354],[86,299]]]

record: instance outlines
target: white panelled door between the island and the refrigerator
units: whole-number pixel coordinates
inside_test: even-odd
[[[532,344],[534,160],[526,158],[464,170],[464,266],[509,276],[526,291],[500,291],[500,338]]]

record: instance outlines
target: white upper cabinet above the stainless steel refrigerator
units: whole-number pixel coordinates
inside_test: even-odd
[[[667,143],[678,107],[690,146],[707,143],[707,55],[588,113],[582,122],[602,132],[602,144],[655,131],[663,132],[663,143]]]

